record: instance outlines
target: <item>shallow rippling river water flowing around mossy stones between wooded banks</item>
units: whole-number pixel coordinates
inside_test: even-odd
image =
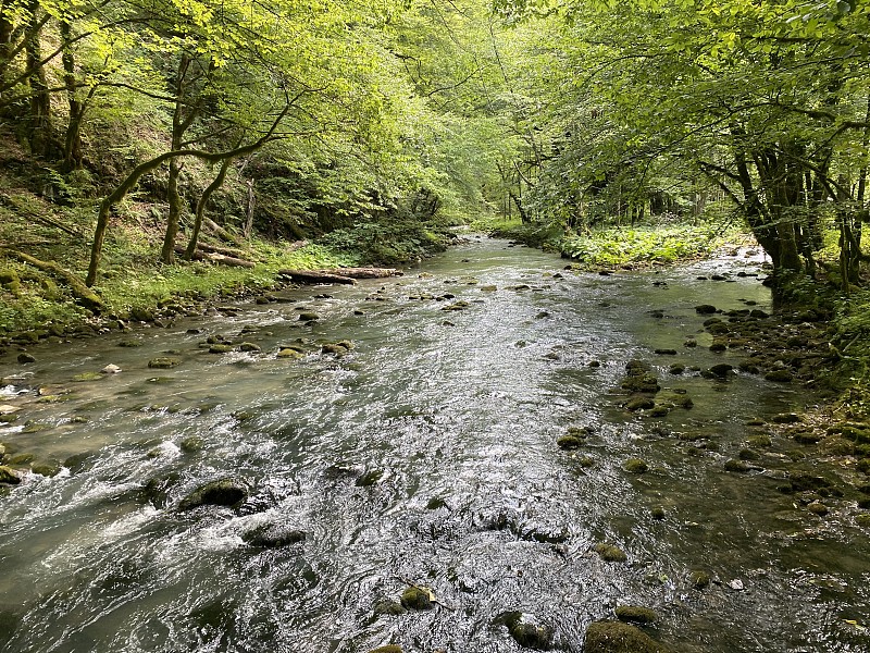
[[[696,278],[758,261],[560,268],[478,239],[403,278],[40,345],[29,366],[8,355],[0,404],[23,417],[0,440],[69,460],[0,498],[0,649],[509,652],[521,648],[498,617],[517,611],[551,628],[555,649],[582,651],[589,623],[620,604],[654,608],[649,632],[682,652],[870,649],[870,546],[852,504],[820,519],[779,492],[799,445],[776,438],[750,473],[723,469],[747,420],[812,397],[742,373],[668,372],[736,360],[705,346],[694,306],[769,309],[769,293],[754,276]],[[458,300],[468,307],[442,310]],[[208,354],[200,343],[217,333],[262,352]],[[684,347],[692,336],[699,346]],[[130,337],[141,346],[117,346]],[[297,338],[310,353],[276,358]],[[356,348],[320,353],[340,340]],[[149,369],[157,356],[181,365]],[[694,408],[622,409],[632,358]],[[123,371],[73,381],[107,364]],[[570,427],[592,431],[579,451],[556,445]],[[649,471],[625,472],[635,457]],[[178,509],[227,477],[249,489],[240,507]],[[246,543],[264,525],[306,537]],[[627,560],[602,560],[599,542]],[[713,582],[695,589],[695,569]],[[435,607],[375,609],[409,584],[431,588]]]

